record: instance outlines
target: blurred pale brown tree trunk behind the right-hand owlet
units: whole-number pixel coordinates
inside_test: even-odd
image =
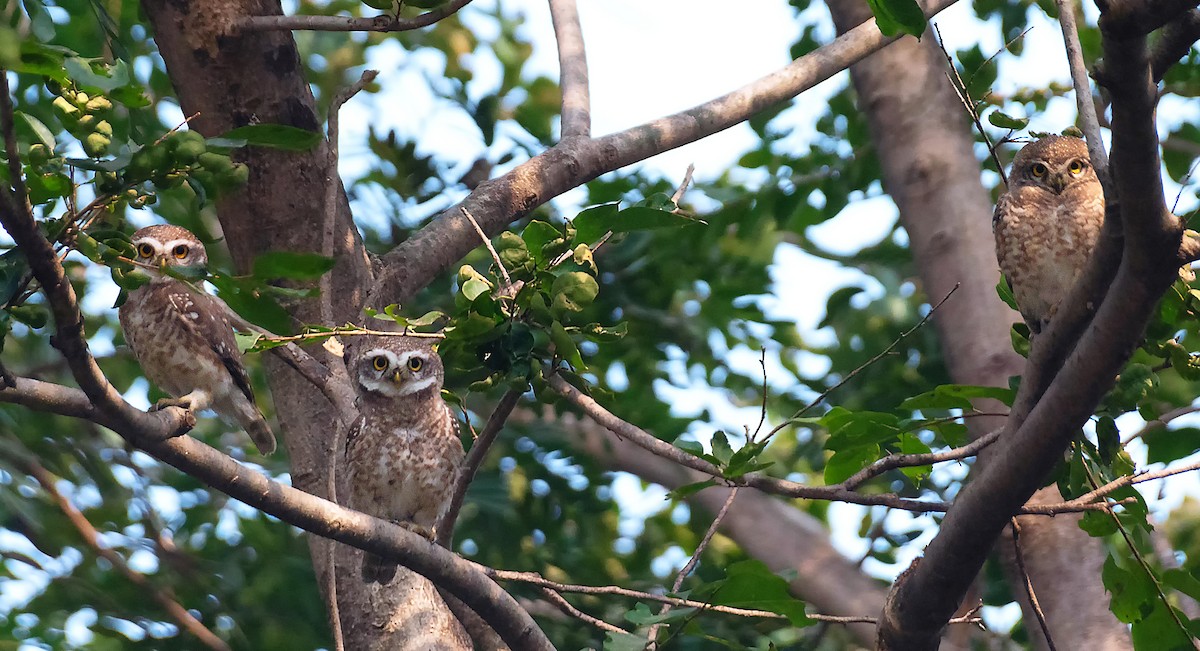
[[[860,0],[830,0],[828,6],[840,32],[871,17]],[[1018,317],[996,297],[1000,274],[991,202],[979,181],[970,123],[946,78],[943,54],[931,32],[920,42],[905,37],[852,66],[851,78],[925,293],[938,299],[961,283],[934,319],[950,376],[965,384],[1007,386],[1008,377],[1024,369],[1008,335]],[[1001,425],[1000,419],[971,422],[976,436]],[[1034,501],[1060,500],[1054,489],[1034,496]],[[1099,574],[1104,550],[1076,521],[1078,516],[1021,519],[1026,569],[1051,637],[1058,649],[1130,649],[1128,631],[1106,608]],[[1010,559],[1010,540],[1002,549]],[[1044,646],[1014,563],[1006,565],[1026,628]]]

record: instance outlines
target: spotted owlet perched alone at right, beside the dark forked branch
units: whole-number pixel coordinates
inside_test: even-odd
[[[1046,136],[1013,160],[996,202],[996,259],[1032,333],[1070,292],[1104,223],[1104,191],[1079,138]]]

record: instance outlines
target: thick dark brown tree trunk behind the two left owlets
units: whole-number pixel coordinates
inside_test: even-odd
[[[290,32],[244,37],[232,31],[230,25],[244,14],[281,13],[278,2],[146,0],[143,7],[184,113],[199,113],[191,129],[205,136],[254,123],[322,130]],[[238,268],[250,269],[254,256],[266,251],[322,251],[325,187],[329,174],[336,175],[328,169],[328,144],[322,141],[305,153],[246,148],[236,157],[250,167],[250,184],[220,202],[218,216]],[[344,195],[338,197],[332,219],[337,265],[324,299],[331,301],[334,322],[344,323],[359,317],[371,271]],[[317,300],[290,305],[289,310],[300,323],[320,321]],[[313,354],[320,354],[330,369],[341,368],[337,358],[320,350]],[[330,497],[330,461],[338,460],[341,452],[336,412],[300,375],[274,359],[266,365],[275,404],[281,407],[277,416],[293,485]],[[325,591],[330,544],[323,538],[313,538],[311,544],[318,583]],[[349,548],[337,547],[340,567],[342,559],[356,557]],[[353,567],[349,561],[344,565]],[[424,578],[407,573],[389,590],[371,591],[355,577],[338,574],[336,593],[347,649],[469,649],[462,627]]]

